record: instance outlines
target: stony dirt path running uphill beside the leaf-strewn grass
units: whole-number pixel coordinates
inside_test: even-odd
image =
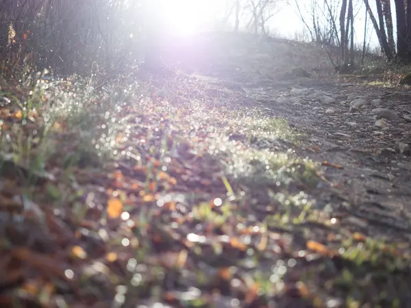
[[[236,55],[225,55],[226,62],[216,61],[219,70],[197,64],[199,74],[240,90],[247,103],[306,133],[299,155],[326,162],[323,172],[334,185],[313,192],[319,207],[344,207],[370,234],[410,239],[411,92],[367,86],[364,77],[336,78],[318,47],[286,40],[247,51],[238,46]],[[300,67],[321,73],[292,73]]]

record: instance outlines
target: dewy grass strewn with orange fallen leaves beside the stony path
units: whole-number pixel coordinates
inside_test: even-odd
[[[404,307],[409,244],[318,206],[303,135],[177,77],[2,85],[1,307]]]

